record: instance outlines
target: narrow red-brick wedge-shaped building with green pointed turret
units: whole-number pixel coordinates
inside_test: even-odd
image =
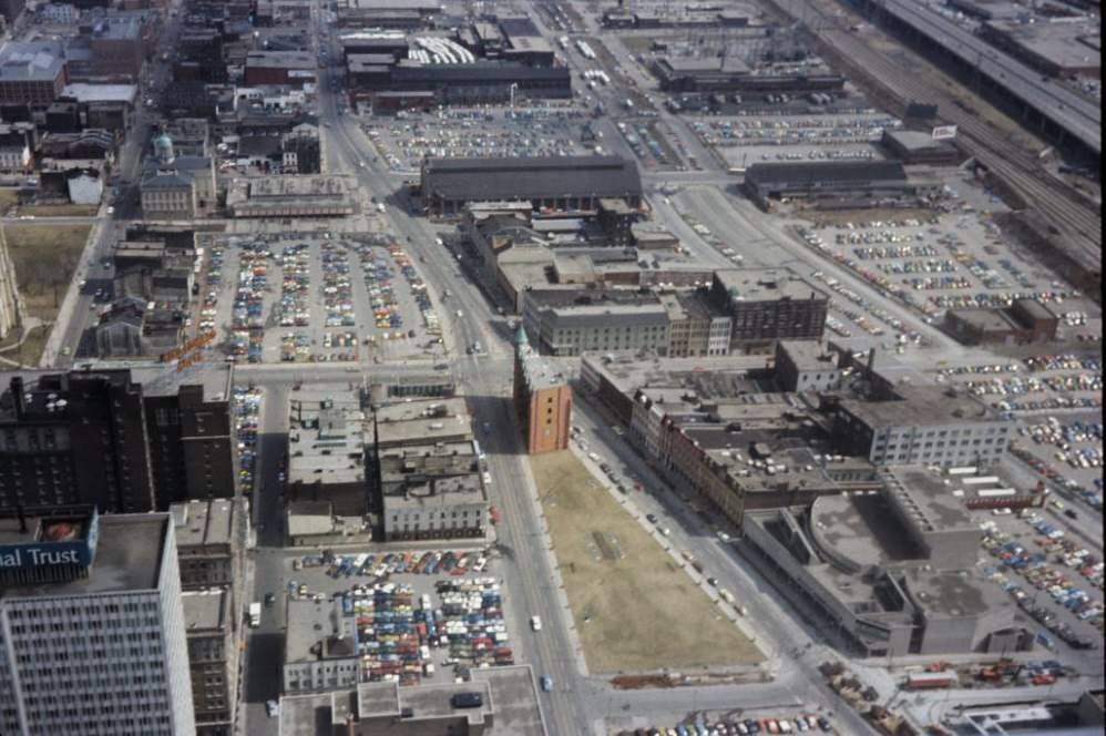
[[[514,344],[514,408],[526,452],[565,450],[572,425],[572,389],[564,375],[530,347],[521,325]]]

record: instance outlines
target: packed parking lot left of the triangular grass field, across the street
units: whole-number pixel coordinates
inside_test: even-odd
[[[514,664],[504,592],[488,550],[306,554],[266,605],[340,601],[356,617],[362,682],[401,684]]]

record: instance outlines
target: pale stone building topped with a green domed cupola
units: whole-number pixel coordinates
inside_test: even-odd
[[[151,146],[139,185],[143,217],[192,219],[214,209],[217,192],[212,160],[176,155],[173,139],[164,130]]]

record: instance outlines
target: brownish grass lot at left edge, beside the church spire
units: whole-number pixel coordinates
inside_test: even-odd
[[[53,321],[91,226],[7,225],[3,229],[28,311]]]

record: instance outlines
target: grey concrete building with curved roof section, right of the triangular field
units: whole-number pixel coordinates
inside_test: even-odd
[[[975,566],[981,532],[924,468],[879,493],[746,514],[743,554],[862,657],[1032,648],[1010,596]]]

